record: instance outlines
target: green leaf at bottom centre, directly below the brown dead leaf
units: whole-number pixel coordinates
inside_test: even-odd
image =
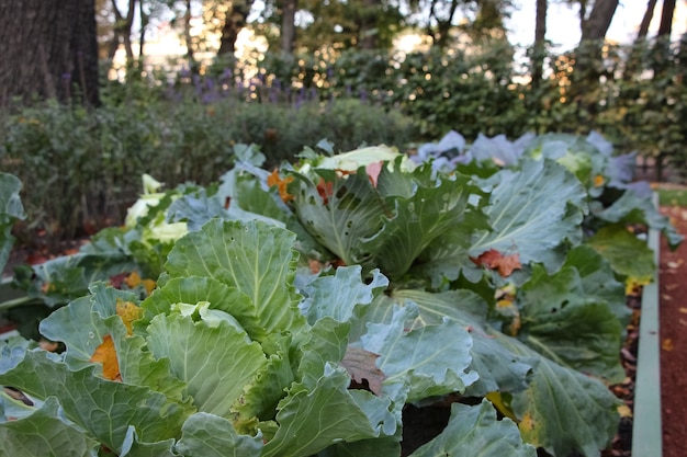
[[[349,384],[346,370],[327,364],[314,386],[294,385],[279,404],[280,426],[262,456],[307,457],[340,441],[393,435],[397,424],[388,398],[348,390]]]

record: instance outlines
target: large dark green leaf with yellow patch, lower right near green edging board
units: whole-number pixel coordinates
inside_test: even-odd
[[[536,356],[514,338],[494,336],[516,354]],[[598,457],[618,432],[621,404],[598,379],[541,357],[530,387],[515,393],[510,407],[526,442],[556,457]]]

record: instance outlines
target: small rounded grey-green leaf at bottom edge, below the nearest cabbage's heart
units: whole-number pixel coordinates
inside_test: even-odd
[[[183,423],[174,448],[185,457],[259,457],[262,435],[240,435],[230,421],[199,412]]]

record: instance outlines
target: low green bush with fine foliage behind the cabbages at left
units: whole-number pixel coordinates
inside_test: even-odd
[[[122,98],[93,110],[49,102],[3,118],[0,168],[24,183],[31,222],[16,228],[20,240],[32,242],[42,231],[58,242],[120,224],[143,173],[168,187],[207,185],[232,167],[236,144],[257,145],[275,167],[324,138],[338,150],[364,142],[403,148],[413,133],[399,113],[359,100],[291,105]]]

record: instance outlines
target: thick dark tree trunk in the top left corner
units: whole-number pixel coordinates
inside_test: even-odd
[[[16,96],[99,104],[93,0],[0,0],[0,105]]]

